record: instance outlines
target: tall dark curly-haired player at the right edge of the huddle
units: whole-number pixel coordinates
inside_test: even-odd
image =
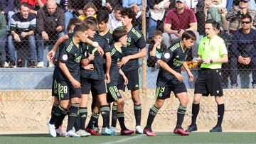
[[[139,58],[146,56],[146,41],[142,31],[133,26],[137,14],[132,8],[124,8],[120,11],[122,15],[123,28],[127,31],[127,45],[122,46],[123,57],[118,62],[119,67],[127,76],[128,84],[119,78],[118,89],[123,94],[125,86],[131,91],[134,103],[134,115],[136,120],[136,133],[142,134],[141,127],[142,104],[139,99]]]

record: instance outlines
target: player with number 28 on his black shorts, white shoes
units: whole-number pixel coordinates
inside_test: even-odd
[[[56,136],[55,120],[61,113],[68,113],[68,126],[65,136],[80,137],[72,131],[75,120],[78,116],[80,103],[80,60],[82,57],[82,43],[87,38],[87,26],[80,25],[74,28],[72,38],[65,40],[61,45],[58,57],[57,73],[55,76],[58,82],[58,99],[60,104],[53,110],[54,115],[48,123],[50,135]],[[70,104],[70,108],[68,106]]]

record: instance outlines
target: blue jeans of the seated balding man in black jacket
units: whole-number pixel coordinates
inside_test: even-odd
[[[64,35],[64,32],[58,33],[57,35],[55,35],[55,38],[50,38],[49,36],[49,40],[58,40],[58,38],[62,37]],[[43,37],[41,34],[36,34],[36,40],[37,40],[37,45],[38,45],[38,49],[37,49],[37,61],[38,62],[43,62],[43,50],[45,49],[45,40],[43,40]],[[55,43],[55,42],[54,42]]]

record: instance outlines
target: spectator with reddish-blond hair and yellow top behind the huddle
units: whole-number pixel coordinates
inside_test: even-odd
[[[85,18],[87,18],[89,16],[93,16],[96,18],[97,8],[92,2],[89,2],[82,9],[82,12],[83,12],[83,14],[78,16],[78,18],[80,18],[82,21],[85,20]]]

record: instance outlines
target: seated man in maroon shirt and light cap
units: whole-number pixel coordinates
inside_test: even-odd
[[[186,8],[185,0],[176,0],[176,8],[171,9],[164,20],[163,34],[164,44],[169,48],[171,43],[181,40],[184,31],[194,31],[196,34],[196,43],[192,47],[192,56],[197,57],[199,33],[197,32],[197,20],[194,11]],[[188,60],[191,60],[189,57]]]

